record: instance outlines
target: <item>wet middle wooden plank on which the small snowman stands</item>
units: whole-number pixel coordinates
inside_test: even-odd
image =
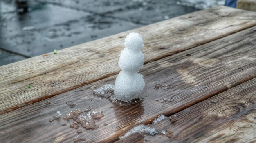
[[[128,107],[113,106],[108,99],[92,95],[94,89],[114,83],[111,76],[81,88],[49,98],[52,104],[40,101],[0,115],[0,140],[4,142],[71,142],[75,129],[60,126],[63,119],[48,123],[57,110],[71,111],[65,102],[72,100],[76,108],[92,106],[103,111],[96,121],[99,128],[83,130],[80,137],[97,142],[117,141],[121,135],[138,124],[148,124],[159,114],[172,115],[231,87],[256,77],[256,26],[222,39],[148,63],[142,69],[146,90],[142,104]],[[243,38],[241,38],[243,37]],[[189,56],[191,55],[191,56]],[[238,70],[241,68],[243,70]],[[164,87],[154,89],[159,83]],[[167,102],[157,102],[166,99]],[[121,110],[121,113],[115,111]],[[103,126],[103,123],[108,123]]]

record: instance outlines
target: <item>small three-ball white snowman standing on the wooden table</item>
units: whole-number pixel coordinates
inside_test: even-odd
[[[144,47],[143,39],[139,33],[129,33],[124,40],[125,48],[121,51],[118,74],[114,93],[117,100],[124,102],[138,98],[144,90],[145,82],[139,70],[143,67],[144,55],[141,49]]]

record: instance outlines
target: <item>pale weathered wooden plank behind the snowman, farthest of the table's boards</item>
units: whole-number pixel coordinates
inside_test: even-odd
[[[219,6],[128,32],[144,38],[148,63],[254,25],[255,12]],[[128,32],[0,67],[0,114],[117,74]]]

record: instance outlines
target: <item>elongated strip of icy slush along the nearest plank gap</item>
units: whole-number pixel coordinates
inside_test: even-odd
[[[128,132],[126,132],[124,134],[124,136],[120,137],[120,139],[125,138],[125,137],[129,136],[130,134],[134,134],[134,133],[150,134],[150,135],[160,134],[160,132],[158,132],[155,128],[150,128],[150,126],[148,126],[148,125],[140,124],[140,125],[132,128]]]

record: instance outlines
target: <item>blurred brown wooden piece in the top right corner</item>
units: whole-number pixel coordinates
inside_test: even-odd
[[[238,0],[236,8],[247,11],[256,11],[256,0]]]

